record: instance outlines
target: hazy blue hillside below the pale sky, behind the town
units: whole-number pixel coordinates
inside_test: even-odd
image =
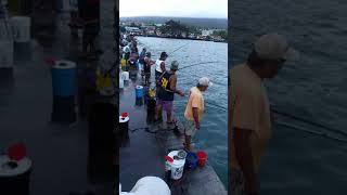
[[[194,17],[160,17],[160,16],[137,16],[137,17],[120,17],[121,22],[141,22],[141,23],[158,23],[174,20],[180,21],[182,24],[205,27],[205,28],[228,28],[227,18],[194,18]]]

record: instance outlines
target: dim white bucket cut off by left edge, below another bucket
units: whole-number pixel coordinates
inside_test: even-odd
[[[13,67],[13,40],[0,40],[0,68]]]

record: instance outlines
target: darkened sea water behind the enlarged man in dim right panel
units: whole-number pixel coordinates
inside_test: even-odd
[[[347,133],[347,2],[266,0],[230,3],[229,67],[245,61],[262,34],[286,36],[300,52],[280,75],[266,81],[269,99],[283,113]],[[306,130],[342,134],[278,115]],[[280,125],[261,164],[260,194],[345,194],[347,143]]]

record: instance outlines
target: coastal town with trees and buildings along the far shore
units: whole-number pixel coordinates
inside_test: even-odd
[[[180,21],[169,20],[164,24],[136,21],[120,21],[120,34],[136,36],[191,39],[215,42],[227,42],[227,29],[195,27],[182,24]]]

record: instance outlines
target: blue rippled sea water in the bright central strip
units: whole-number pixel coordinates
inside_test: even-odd
[[[151,37],[138,37],[137,39],[139,51],[142,50],[142,47],[145,47],[152,53],[152,60],[158,58],[160,52],[166,51],[169,54],[166,63],[167,68],[175,60],[179,62],[180,68],[202,63],[177,72],[177,87],[183,90],[188,96],[190,88],[196,86],[200,77],[209,77],[214,82],[214,86],[204,93],[206,110],[201,123],[201,131],[196,133],[195,147],[207,153],[208,162],[227,185],[228,115],[224,108],[228,105],[228,44]],[[154,66],[152,66],[152,77],[154,79]],[[188,98],[176,95],[175,99],[174,115],[178,119],[183,119]]]

